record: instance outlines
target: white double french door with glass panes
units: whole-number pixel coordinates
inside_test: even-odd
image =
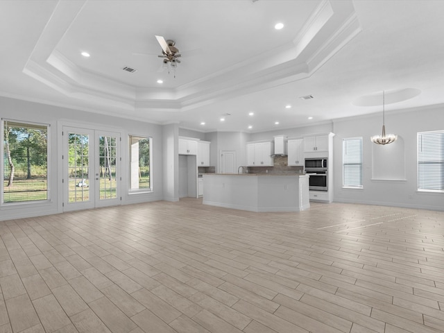
[[[120,134],[63,127],[63,210],[120,204]]]

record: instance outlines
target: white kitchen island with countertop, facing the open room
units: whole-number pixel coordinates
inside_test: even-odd
[[[212,173],[203,178],[204,205],[250,212],[300,212],[310,207],[306,175]]]

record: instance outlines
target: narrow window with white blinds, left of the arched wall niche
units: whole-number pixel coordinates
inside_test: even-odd
[[[342,140],[343,187],[362,188],[362,137]]]

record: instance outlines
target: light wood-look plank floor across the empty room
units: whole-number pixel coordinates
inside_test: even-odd
[[[0,332],[444,332],[444,212],[156,202],[0,222]]]

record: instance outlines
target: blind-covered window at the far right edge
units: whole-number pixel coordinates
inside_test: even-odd
[[[444,130],[418,133],[418,191],[444,192]]]

